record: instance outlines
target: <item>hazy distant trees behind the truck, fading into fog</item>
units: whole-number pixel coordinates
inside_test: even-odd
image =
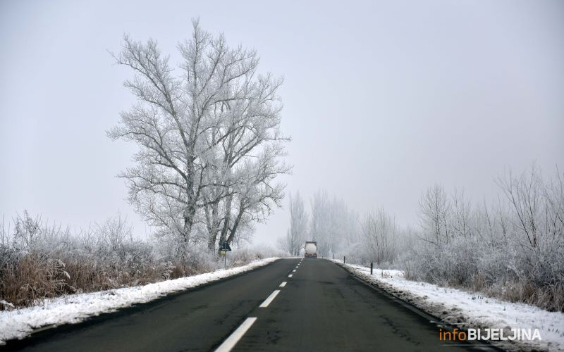
[[[384,208],[369,211],[362,218],[342,199],[319,190],[309,202],[296,192],[290,194],[290,227],[281,246],[298,256],[305,241],[317,241],[319,256],[347,256],[358,263],[389,265],[410,245],[412,231],[400,229]]]

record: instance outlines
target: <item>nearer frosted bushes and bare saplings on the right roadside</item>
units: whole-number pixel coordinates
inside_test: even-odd
[[[444,196],[427,207],[440,210],[424,213],[427,220],[442,225],[424,227],[422,241],[400,256],[407,277],[564,310],[563,177],[544,182],[532,168],[498,183],[507,203],[492,206],[494,213],[465,208],[461,217]],[[457,231],[461,223],[465,232]]]

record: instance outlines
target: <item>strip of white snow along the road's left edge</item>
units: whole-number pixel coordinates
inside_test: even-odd
[[[108,291],[71,294],[44,301],[39,306],[0,311],[0,345],[8,339],[22,339],[34,329],[49,325],[77,323],[85,318],[114,312],[136,303],[146,303],[176,291],[207,284],[272,263],[278,258],[265,258],[227,270],[216,270],[190,277],[181,277],[143,286]]]

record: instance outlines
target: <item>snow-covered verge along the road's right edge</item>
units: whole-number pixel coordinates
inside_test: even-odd
[[[342,260],[333,260],[343,265]],[[548,312],[522,303],[511,303],[467,291],[439,287],[427,282],[403,278],[399,270],[374,269],[345,264],[344,267],[364,280],[408,301],[444,321],[463,328],[539,329],[541,341],[503,342],[510,351],[564,351],[564,313]],[[437,333],[437,337],[439,334]],[[501,344],[501,343],[500,343]]]

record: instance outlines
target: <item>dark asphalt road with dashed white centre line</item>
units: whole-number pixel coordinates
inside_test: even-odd
[[[439,328],[428,318],[360,282],[335,263],[281,259],[182,294],[11,341],[4,348],[104,352],[489,350],[443,344]]]

